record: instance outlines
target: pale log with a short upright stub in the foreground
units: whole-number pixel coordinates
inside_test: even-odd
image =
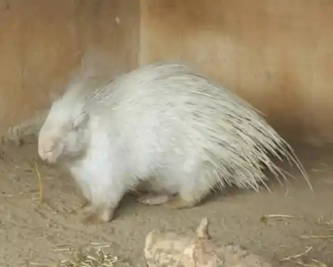
[[[203,218],[194,236],[153,230],[146,236],[144,256],[148,267],[271,267],[263,257],[241,245],[221,243],[208,232]]]

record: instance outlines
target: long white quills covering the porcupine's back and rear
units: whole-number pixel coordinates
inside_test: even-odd
[[[144,127],[148,142],[155,142],[152,153],[162,151],[161,159],[190,146],[202,157],[207,167],[205,179],[212,186],[217,171],[221,178],[218,186],[235,184],[258,191],[259,184],[266,186],[264,166],[275,177],[285,179],[284,170],[268,154],[296,163],[309,184],[293,149],[259,111],[186,65],[155,63],[141,67],[99,88],[91,100],[87,108],[92,113],[108,116],[112,109],[110,123],[122,121],[121,132],[128,140]],[[186,149],[180,151],[187,156]]]

